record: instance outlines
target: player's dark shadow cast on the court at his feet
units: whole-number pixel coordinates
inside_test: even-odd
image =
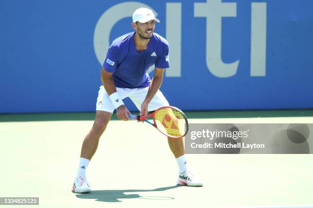
[[[170,187],[162,187],[151,190],[137,190],[137,189],[129,189],[129,190],[96,190],[91,191],[90,193],[85,194],[77,194],[76,197],[80,199],[96,199],[96,201],[103,202],[122,202],[119,199],[134,199],[134,198],[143,198],[143,199],[154,199],[154,200],[169,200],[174,199],[173,197],[165,197],[165,196],[141,196],[139,194],[125,194],[131,192],[152,192],[152,191],[166,191],[169,189],[175,189],[181,186],[170,186]]]

